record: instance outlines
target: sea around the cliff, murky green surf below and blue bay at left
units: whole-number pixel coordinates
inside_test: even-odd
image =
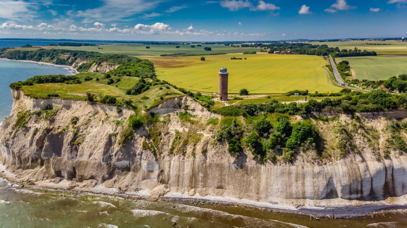
[[[69,75],[72,72],[65,67],[0,60],[0,122],[10,114],[13,104],[9,84],[45,74]],[[1,163],[0,169],[4,169]],[[56,191],[11,183],[0,178],[0,228],[2,227],[397,228],[407,227],[407,219],[403,214],[387,213],[374,217],[317,220],[311,219],[309,215],[234,205],[205,204],[199,201],[151,202],[74,191]]]

